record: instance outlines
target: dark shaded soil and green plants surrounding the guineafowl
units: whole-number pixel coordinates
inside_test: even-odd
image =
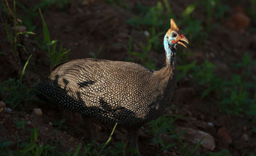
[[[166,114],[139,131],[142,155],[256,155],[255,0],[23,0],[16,7],[7,2],[0,3],[3,155],[36,155],[36,147],[42,155],[68,155],[75,149],[82,155],[88,146],[79,146],[84,135],[80,115],[38,101],[29,91],[46,79],[50,67],[75,58],[164,67],[170,18],[190,45],[178,47],[177,87]],[[99,154],[112,128],[97,121],[92,127],[98,146],[87,153]],[[203,138],[198,130],[213,139],[197,146],[193,140]],[[36,139],[30,137],[35,134]],[[126,137],[117,128],[99,155],[123,155]]]

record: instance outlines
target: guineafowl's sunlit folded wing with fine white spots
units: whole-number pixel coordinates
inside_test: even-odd
[[[151,73],[132,62],[83,59],[59,65],[50,79],[86,106],[112,108],[139,101]]]

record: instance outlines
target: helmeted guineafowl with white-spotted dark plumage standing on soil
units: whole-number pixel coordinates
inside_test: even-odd
[[[161,116],[171,101],[178,44],[186,47],[188,40],[171,19],[164,36],[166,66],[159,71],[132,62],[70,60],[55,66],[37,89],[58,106],[126,127],[131,145],[138,149],[138,128]],[[87,132],[91,135],[90,128]]]

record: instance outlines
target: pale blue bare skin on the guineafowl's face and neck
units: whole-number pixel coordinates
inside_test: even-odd
[[[164,35],[164,50],[166,50],[166,57],[168,60],[171,60],[171,52],[176,52],[177,43],[171,43],[171,40],[176,40],[178,35],[173,38],[172,33],[174,33],[174,31],[171,32],[171,36],[169,36],[167,33]]]

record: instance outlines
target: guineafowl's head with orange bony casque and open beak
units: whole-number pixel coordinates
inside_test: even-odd
[[[164,49],[168,54],[176,52],[176,45],[182,45],[186,48],[188,45],[188,39],[183,35],[182,31],[178,29],[174,19],[171,18],[171,28],[164,35]]]

